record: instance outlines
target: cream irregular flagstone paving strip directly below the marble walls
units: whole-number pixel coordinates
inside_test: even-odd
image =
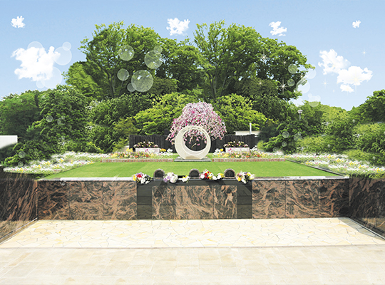
[[[0,248],[283,247],[385,244],[349,218],[42,220]]]

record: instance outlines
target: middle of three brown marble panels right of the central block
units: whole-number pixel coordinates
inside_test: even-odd
[[[317,218],[319,180],[286,181],[286,217]]]

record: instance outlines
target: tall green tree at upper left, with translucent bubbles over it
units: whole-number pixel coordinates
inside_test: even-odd
[[[96,25],[93,38],[81,41],[80,49],[86,54],[85,71],[102,88],[105,98],[119,97],[128,92],[129,83],[128,79],[121,81],[118,78],[120,69],[128,71],[130,76],[135,71],[147,69],[145,53],[158,46],[159,40],[160,36],[152,28],[131,25],[124,29],[123,21],[108,26]],[[127,45],[134,51],[129,61],[120,57],[121,48]]]

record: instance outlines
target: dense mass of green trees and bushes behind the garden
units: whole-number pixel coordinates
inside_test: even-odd
[[[384,152],[384,138],[369,133],[381,135],[383,124],[372,125],[385,121],[385,90],[349,112],[305,102],[299,120],[289,100],[301,95],[297,88],[314,67],[295,46],[254,28],[198,24],[193,40],[178,42],[152,28],[101,24],[80,49],[86,61],[68,68],[66,86],[0,101],[0,135],[19,137],[0,151],[0,161],[14,165],[66,150],[112,152],[127,145],[130,134],[167,134],[183,107],[199,101],[212,104],[228,133],[252,123],[265,150]],[[21,150],[26,157],[16,155]]]

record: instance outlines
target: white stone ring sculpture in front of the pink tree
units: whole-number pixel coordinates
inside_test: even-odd
[[[185,145],[184,136],[185,136],[185,133],[189,132],[190,130],[197,130],[203,133],[203,135],[205,135],[207,144],[203,150],[198,150],[198,151],[190,150]],[[210,135],[207,133],[207,131],[204,128],[198,127],[197,125],[186,126],[182,130],[180,130],[178,135],[175,137],[175,150],[178,152],[178,155],[180,155],[180,157],[184,158],[185,160],[201,160],[202,158],[205,158],[207,153],[210,151],[210,147],[211,147]]]

